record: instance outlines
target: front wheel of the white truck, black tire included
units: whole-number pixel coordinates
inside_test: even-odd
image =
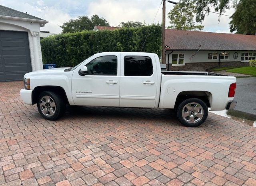
[[[42,117],[47,120],[54,121],[64,115],[66,111],[66,103],[62,97],[56,93],[51,91],[43,91],[38,96],[37,108]]]

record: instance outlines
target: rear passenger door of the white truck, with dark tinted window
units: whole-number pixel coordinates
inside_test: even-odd
[[[153,54],[121,53],[120,107],[154,108],[157,72]]]

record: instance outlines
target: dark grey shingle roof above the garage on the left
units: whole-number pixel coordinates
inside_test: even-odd
[[[24,12],[20,12],[20,11],[17,11],[17,10],[14,10],[12,8],[8,8],[8,7],[2,6],[2,5],[0,5],[0,16],[30,19],[30,20],[39,20],[40,22],[47,22],[46,20],[43,20],[41,18],[31,16],[31,15],[26,14]]]

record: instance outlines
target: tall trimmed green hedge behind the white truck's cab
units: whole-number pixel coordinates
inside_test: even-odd
[[[91,55],[104,51],[142,51],[161,54],[161,26],[118,30],[83,31],[58,34],[41,40],[43,63],[57,67],[75,66]]]

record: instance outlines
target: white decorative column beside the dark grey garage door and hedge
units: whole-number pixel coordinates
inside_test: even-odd
[[[42,54],[41,54],[41,50],[39,51],[39,49],[41,49],[39,32],[31,32],[31,36],[32,36],[32,43],[33,43],[33,51],[32,52],[34,54],[33,62],[35,65],[34,70],[40,70],[40,69],[42,69],[42,58],[40,57],[40,56],[42,56]],[[38,43],[39,43],[39,45],[38,45]],[[31,60],[33,60],[33,59],[31,59]]]

